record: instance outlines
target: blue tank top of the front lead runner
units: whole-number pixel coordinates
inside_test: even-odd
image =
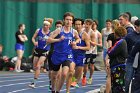
[[[54,43],[54,52],[69,54],[72,52],[71,42],[74,40],[74,29],[71,28],[69,33],[64,32],[64,27],[61,28],[60,34],[56,38],[64,36],[64,40]]]

